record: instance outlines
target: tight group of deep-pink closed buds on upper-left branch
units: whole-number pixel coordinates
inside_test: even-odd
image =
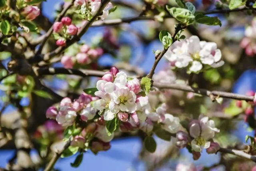
[[[61,22],[54,22],[53,31],[58,35],[57,46],[66,46],[66,39],[77,34],[78,28],[71,23],[72,20],[69,17],[63,17]]]

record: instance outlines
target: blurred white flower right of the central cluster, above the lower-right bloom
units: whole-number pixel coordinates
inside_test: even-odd
[[[169,113],[166,113],[164,117],[164,125],[162,125],[162,128],[170,133],[178,132],[178,130],[180,129],[180,119],[178,117],[174,117]]]

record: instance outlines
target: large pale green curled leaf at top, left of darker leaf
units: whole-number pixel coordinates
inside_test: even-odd
[[[189,25],[195,22],[195,16],[190,10],[175,7],[170,8],[169,6],[166,6],[166,9],[182,24]]]

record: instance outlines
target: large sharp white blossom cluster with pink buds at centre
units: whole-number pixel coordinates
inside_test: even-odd
[[[100,97],[93,106],[103,112],[104,120],[110,121],[118,117],[120,121],[132,119],[135,124],[146,120],[142,107],[147,105],[148,97],[140,95],[140,81],[128,78],[124,72],[113,67],[96,85],[95,95]]]

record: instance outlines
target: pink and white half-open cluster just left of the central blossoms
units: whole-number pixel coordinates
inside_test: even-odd
[[[57,108],[51,106],[46,111],[46,117],[56,119],[62,126],[73,125],[76,117],[80,115],[80,119],[87,121],[93,119],[96,115],[96,110],[90,105],[93,100],[91,95],[81,94],[80,97],[72,102],[68,97],[60,101],[60,106]]]

